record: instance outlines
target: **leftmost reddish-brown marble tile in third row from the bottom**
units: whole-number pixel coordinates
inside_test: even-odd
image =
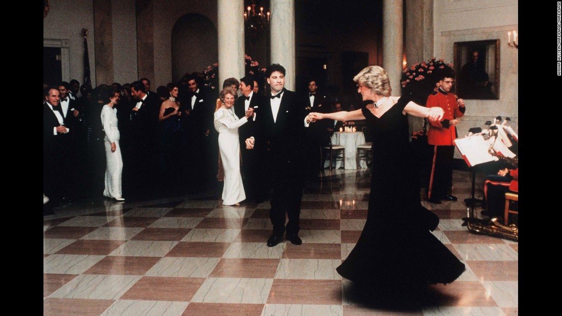
[[[125,276],[143,276],[153,265],[160,260],[159,257],[120,257],[107,256],[84,274],[121,274]]]

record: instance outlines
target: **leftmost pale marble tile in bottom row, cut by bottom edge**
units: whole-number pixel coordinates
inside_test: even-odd
[[[116,300],[101,316],[181,316],[188,304],[171,301]]]

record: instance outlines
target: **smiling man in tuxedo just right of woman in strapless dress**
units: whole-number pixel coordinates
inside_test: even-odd
[[[216,170],[211,171],[211,159],[218,159],[211,153],[209,134],[213,127],[214,101],[209,91],[200,88],[193,76],[186,78],[188,96],[181,104],[185,114],[185,143],[188,147],[186,168],[189,184],[194,190],[205,190]]]

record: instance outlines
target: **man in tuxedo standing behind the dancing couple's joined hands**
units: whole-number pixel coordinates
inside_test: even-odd
[[[328,113],[330,104],[325,95],[318,92],[316,80],[309,81],[309,93],[305,95],[307,113],[319,112]],[[310,178],[316,178],[321,166],[321,146],[328,145],[327,129],[330,125],[329,120],[321,120],[312,124],[306,130],[306,170]]]

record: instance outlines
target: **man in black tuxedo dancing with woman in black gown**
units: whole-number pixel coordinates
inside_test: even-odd
[[[270,97],[266,97],[263,108],[256,113],[254,135],[246,139],[246,148],[261,149],[267,154],[264,163],[270,167],[273,181],[273,196],[269,218],[273,223],[273,234],[268,246],[273,247],[283,238],[294,245],[302,244],[298,237],[303,178],[303,145],[305,126],[311,122],[302,98],[293,91],[284,89],[285,68],[273,64],[265,72],[270,85]],[[289,221],[285,227],[285,212]]]

